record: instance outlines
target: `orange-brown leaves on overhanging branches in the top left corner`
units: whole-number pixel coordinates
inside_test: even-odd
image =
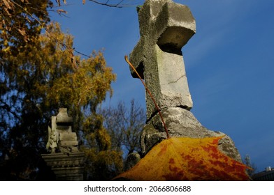
[[[44,26],[49,21],[47,5],[47,0],[1,1],[0,32],[8,31],[1,39],[8,40],[16,51],[17,46],[38,36],[41,32],[38,26]]]

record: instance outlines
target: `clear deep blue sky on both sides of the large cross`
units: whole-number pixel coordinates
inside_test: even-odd
[[[182,48],[192,113],[208,129],[228,134],[258,171],[274,166],[274,1],[176,2],[189,6],[196,19],[196,34]],[[51,15],[74,36],[79,52],[105,49],[117,81],[104,105],[129,105],[134,98],[145,109],[145,89],[124,61],[140,38],[136,5],[143,1],[124,3],[131,6],[68,1],[66,17]]]

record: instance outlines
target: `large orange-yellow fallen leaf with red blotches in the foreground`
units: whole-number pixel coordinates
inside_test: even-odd
[[[217,149],[219,139],[166,139],[113,180],[250,180],[245,164]]]

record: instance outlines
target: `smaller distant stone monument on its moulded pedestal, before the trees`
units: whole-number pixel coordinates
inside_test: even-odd
[[[42,157],[55,173],[56,180],[83,180],[84,153],[78,150],[77,135],[72,132],[73,118],[60,108],[48,126],[47,150]]]

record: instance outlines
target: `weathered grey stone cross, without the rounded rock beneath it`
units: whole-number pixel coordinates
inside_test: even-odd
[[[146,0],[138,10],[140,40],[129,55],[161,109],[192,108],[182,47],[196,33],[196,22],[187,6],[171,0]],[[131,70],[132,77],[137,77]],[[156,108],[146,94],[147,120]]]

